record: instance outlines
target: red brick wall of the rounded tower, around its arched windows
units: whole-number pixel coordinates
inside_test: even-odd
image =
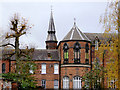
[[[61,88],[63,88],[63,77],[64,76],[68,76],[69,77],[69,88],[73,88],[73,77],[74,76],[80,76],[82,78],[82,76],[90,71],[90,67],[91,67],[91,51],[90,51],[90,48],[91,48],[91,44],[90,42],[88,42],[88,45],[89,45],[89,65],[87,66],[84,66],[86,65],[85,64],[85,45],[86,45],[86,42],[83,42],[83,41],[78,41],[81,45],[81,49],[80,49],[80,54],[81,54],[81,63],[82,64],[72,64],[74,63],[74,44],[76,43],[76,41],[68,41],[66,42],[68,44],[68,47],[69,47],[69,50],[68,50],[68,54],[69,54],[69,64],[63,64],[63,61],[64,61],[64,58],[63,58],[63,45],[65,42],[61,42],[59,47],[58,47],[58,50],[60,51],[60,57],[61,57],[61,66],[63,65],[83,65],[83,66],[64,66],[64,67],[61,67]],[[94,49],[94,48],[93,48]],[[93,55],[94,56],[94,55]],[[70,64],[71,63],[71,64]],[[82,82],[82,86],[84,85],[84,82]]]

